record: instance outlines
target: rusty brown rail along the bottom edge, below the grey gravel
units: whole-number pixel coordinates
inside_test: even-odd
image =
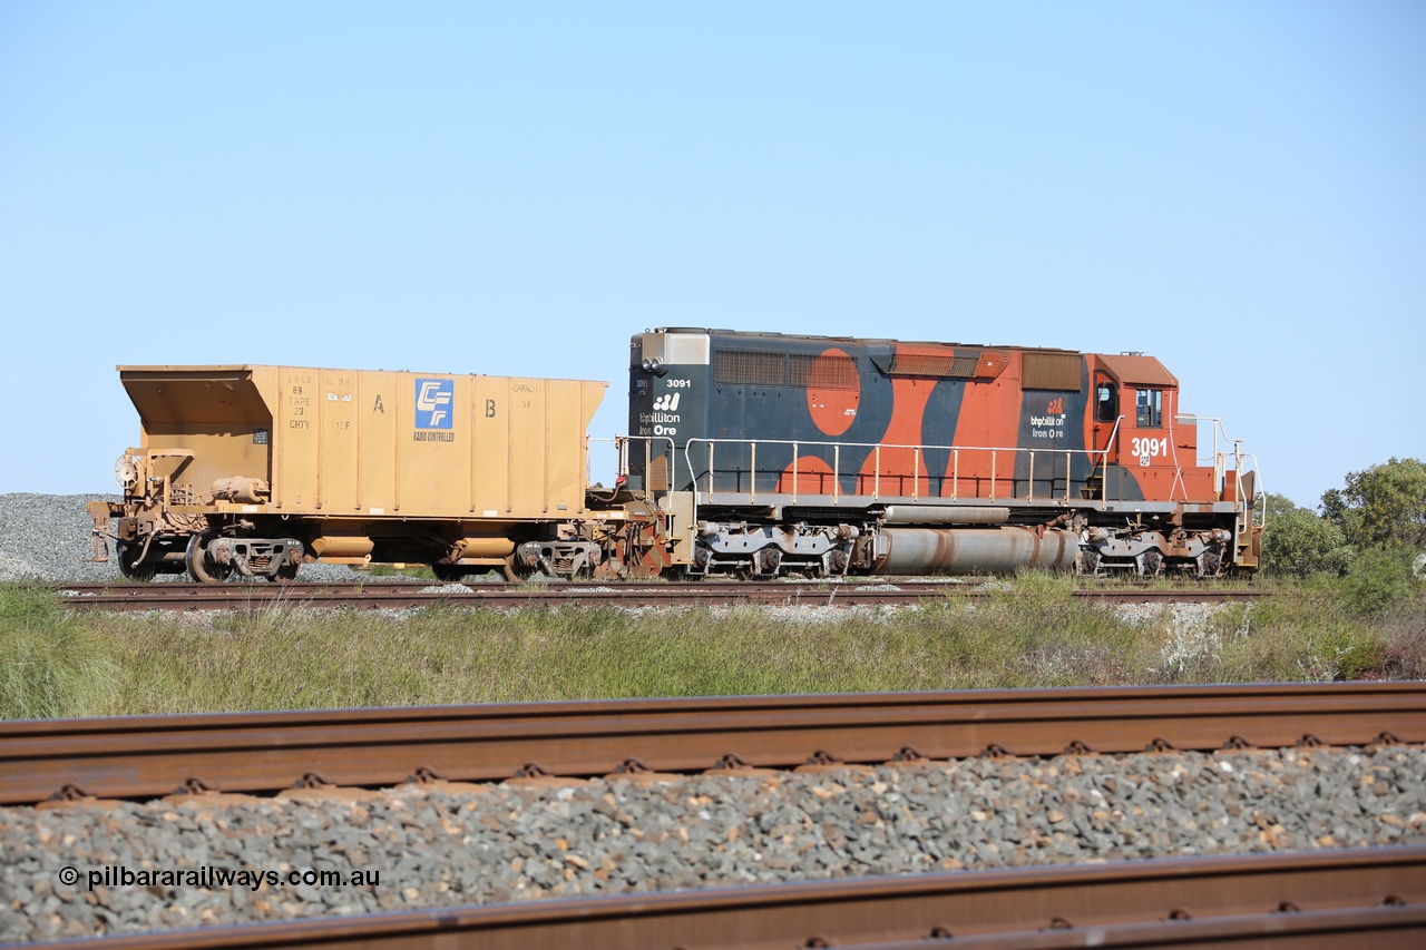
[[[945,946],[997,949],[1378,949],[1417,947],[1423,937],[1426,847],[1382,847],[540,899],[46,946],[910,950],[950,939]]]

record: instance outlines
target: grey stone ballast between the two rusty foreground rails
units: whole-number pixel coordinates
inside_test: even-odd
[[[1426,750],[1419,746],[463,787],[473,792],[405,786],[358,802],[165,799],[0,809],[0,940],[543,896],[1426,842]],[[61,883],[66,867],[77,872],[73,886]],[[212,869],[245,870],[260,883],[215,883]],[[304,883],[301,876],[314,870],[337,872],[344,883]],[[133,883],[123,883],[124,872]],[[352,886],[354,872],[378,879]],[[297,874],[291,882],[289,873]]]

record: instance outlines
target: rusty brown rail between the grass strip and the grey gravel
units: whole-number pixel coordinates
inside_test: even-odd
[[[1426,742],[1426,683],[1316,683],[630,699],[0,722],[0,803],[270,792],[314,775],[502,780],[813,757],[1122,753]],[[819,753],[823,753],[819,756]],[[732,757],[730,757],[732,756]]]

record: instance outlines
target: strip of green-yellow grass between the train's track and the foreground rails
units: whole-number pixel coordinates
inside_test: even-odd
[[[1010,588],[1010,589],[1001,589]],[[1181,623],[1030,573],[918,611],[279,606],[70,615],[0,596],[7,717],[1028,686],[1426,676],[1426,599],[1376,613],[1323,585]],[[1375,608],[1373,608],[1375,609]]]

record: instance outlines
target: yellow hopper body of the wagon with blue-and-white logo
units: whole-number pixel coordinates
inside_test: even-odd
[[[583,514],[585,429],[606,384],[299,367],[123,367],[160,475],[258,478],[262,505],[341,519]],[[170,471],[158,471],[168,465]]]

